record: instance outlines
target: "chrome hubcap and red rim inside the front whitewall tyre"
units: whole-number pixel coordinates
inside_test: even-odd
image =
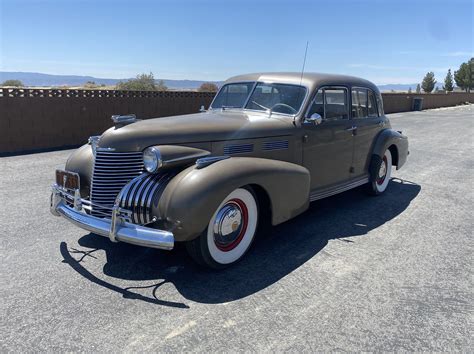
[[[221,251],[230,251],[242,240],[248,224],[245,203],[240,199],[227,202],[217,213],[213,225],[214,243]]]

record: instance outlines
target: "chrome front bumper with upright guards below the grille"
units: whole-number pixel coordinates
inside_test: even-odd
[[[69,206],[66,200],[73,206]],[[173,249],[174,236],[171,232],[132,224],[126,221],[128,211],[118,206],[112,209],[112,219],[88,215],[83,212],[83,202],[78,190],[71,195],[69,191],[53,184],[50,209],[53,215],[62,216],[80,228],[108,237],[113,242],[121,241],[162,250]]]

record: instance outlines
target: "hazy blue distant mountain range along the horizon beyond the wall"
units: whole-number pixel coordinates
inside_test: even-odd
[[[116,85],[119,81],[126,81],[125,79],[106,79],[93,76],[78,76],[78,75],[50,75],[30,72],[9,72],[0,71],[0,83],[5,80],[20,80],[25,86],[82,86],[87,81],[93,81],[97,85]],[[201,80],[169,80],[163,79],[165,85],[172,90],[195,90],[204,82]],[[221,85],[222,81],[212,81],[217,85]],[[378,85],[380,91],[407,91],[410,87],[412,91],[416,89],[414,84],[387,84]]]

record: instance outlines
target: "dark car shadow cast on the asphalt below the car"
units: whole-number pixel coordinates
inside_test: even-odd
[[[168,252],[112,243],[107,238],[88,234],[78,241],[82,249],[68,247],[63,242],[60,250],[63,262],[124,298],[187,308],[186,304],[163,300],[157,295],[161,286],[172,283],[190,301],[224,303],[272,285],[319,253],[329,240],[339,239],[350,247],[357,242],[354,236],[364,236],[400,215],[420,190],[421,186],[415,183],[392,179],[389,189],[380,197],[367,196],[362,188],[357,188],[314,202],[302,215],[257,237],[241,262],[222,271],[195,265],[179,244]],[[89,262],[104,262],[103,257],[95,256],[96,251],[105,251],[104,274],[93,274],[87,269]],[[120,285],[102,280],[103,275],[116,278]],[[124,287],[124,283],[130,286]]]

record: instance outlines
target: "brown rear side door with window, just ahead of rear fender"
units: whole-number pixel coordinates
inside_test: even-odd
[[[365,87],[351,89],[351,115],[354,131],[353,177],[368,173],[374,138],[383,128],[383,119],[377,112],[374,91]]]

